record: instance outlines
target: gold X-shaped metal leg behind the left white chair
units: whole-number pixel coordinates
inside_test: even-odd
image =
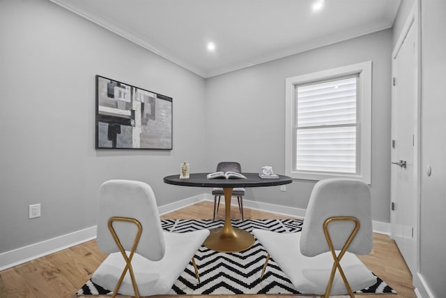
[[[123,245],[121,244],[121,240],[119,240],[118,234],[116,234],[116,231],[113,228],[113,222],[114,221],[124,221],[124,222],[128,222],[128,223],[134,223],[134,225],[137,226],[137,229],[138,229],[137,230],[137,235],[134,238],[132,249],[130,251],[130,255],[127,255],[127,253],[125,253],[125,249],[124,249]],[[113,217],[111,217],[109,219],[108,227],[109,227],[110,233],[112,233],[112,236],[113,236],[114,241],[116,242],[116,245],[119,248],[119,251],[121,251],[121,255],[123,255],[123,258],[125,260],[125,267],[123,269],[123,273],[121,274],[121,277],[119,278],[118,283],[116,284],[116,287],[115,287],[115,289],[113,291],[112,297],[114,298],[118,294],[118,290],[119,290],[119,288],[121,288],[121,283],[123,282],[124,276],[127,273],[127,271],[129,271],[130,279],[132,280],[134,297],[139,298],[138,285],[137,285],[136,279],[134,278],[134,273],[133,273],[132,258],[133,258],[133,255],[134,255],[134,251],[136,251],[136,249],[137,249],[137,246],[138,246],[138,243],[139,243],[139,239],[141,238],[142,225],[141,225],[141,223],[139,223],[139,221],[137,221],[134,218],[113,216]]]

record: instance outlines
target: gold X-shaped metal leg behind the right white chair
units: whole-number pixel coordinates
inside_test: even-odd
[[[355,223],[355,228],[353,228],[350,236],[348,237],[346,243],[341,249],[341,252],[339,255],[336,255],[336,251],[334,251],[334,246],[332,243],[332,239],[330,237],[330,233],[328,232],[328,224],[330,224],[332,221],[353,221]],[[351,286],[347,281],[346,275],[344,274],[344,270],[341,267],[341,258],[344,257],[344,254],[346,253],[348,246],[350,246],[351,242],[355,238],[355,235],[357,234],[357,231],[360,229],[360,222],[357,218],[353,216],[334,216],[330,217],[325,220],[323,223],[323,231],[325,233],[325,238],[327,239],[328,246],[330,247],[330,252],[332,253],[333,258],[333,266],[332,271],[330,274],[330,278],[328,280],[327,288],[325,289],[325,295],[323,297],[328,298],[330,296],[330,291],[332,289],[332,283],[334,280],[334,274],[336,274],[336,269],[338,269],[339,274],[341,275],[342,281],[344,281],[344,285],[346,286],[346,289],[348,291],[348,295],[351,298],[354,298],[355,295],[353,295],[353,291],[351,290]]]

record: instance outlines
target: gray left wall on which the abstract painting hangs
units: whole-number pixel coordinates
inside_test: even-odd
[[[49,1],[1,1],[0,36],[0,253],[95,225],[107,179],[146,181],[159,205],[203,193],[162,182],[204,170],[203,78]],[[96,74],[171,96],[174,149],[95,150]]]

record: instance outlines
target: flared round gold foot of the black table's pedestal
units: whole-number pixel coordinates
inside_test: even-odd
[[[215,228],[210,230],[204,246],[220,253],[236,253],[245,251],[254,244],[254,236],[238,228]]]

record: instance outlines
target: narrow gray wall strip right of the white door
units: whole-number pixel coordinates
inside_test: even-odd
[[[446,283],[446,1],[422,0],[420,272],[435,297]],[[431,177],[426,175],[431,165]],[[426,296],[427,297],[427,296]]]

